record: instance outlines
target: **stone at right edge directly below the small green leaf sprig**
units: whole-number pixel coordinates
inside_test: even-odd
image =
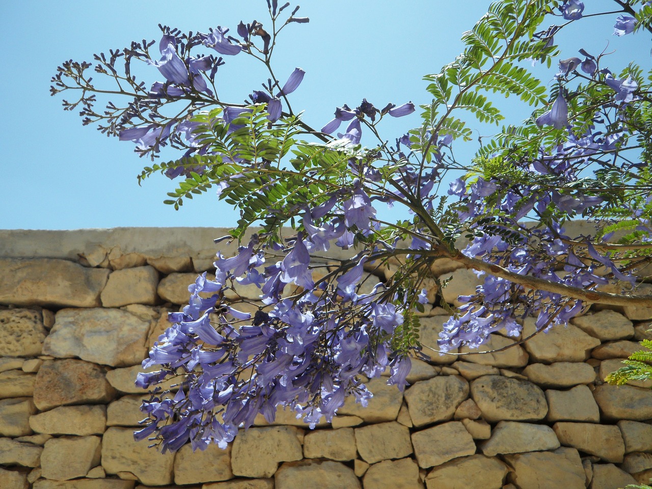
[[[652,389],[603,384],[595,388],[593,397],[602,416],[609,421],[652,419]]]

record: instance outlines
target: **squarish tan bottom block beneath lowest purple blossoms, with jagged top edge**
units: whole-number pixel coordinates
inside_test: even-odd
[[[174,483],[227,481],[231,472],[231,445],[225,450],[211,443],[204,451],[192,451],[190,444],[179,449],[174,459]]]

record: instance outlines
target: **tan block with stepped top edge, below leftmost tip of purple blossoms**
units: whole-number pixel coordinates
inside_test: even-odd
[[[143,484],[170,484],[174,454],[161,454],[147,445],[147,440],[134,441],[132,428],[108,428],[102,437],[102,467],[108,474],[131,472]]]

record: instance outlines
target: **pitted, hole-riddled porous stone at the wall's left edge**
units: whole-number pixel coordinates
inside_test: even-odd
[[[7,309],[0,310],[0,334],[0,357],[36,357],[48,331],[38,311]]]

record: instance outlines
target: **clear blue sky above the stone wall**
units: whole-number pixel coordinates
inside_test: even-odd
[[[280,1],[279,3],[282,3]],[[295,67],[306,70],[292,94],[293,108],[321,127],[336,106],[356,106],[366,97],[376,106],[407,100],[428,102],[423,74],[437,72],[462,49],[460,35],[488,5],[486,0],[306,0],[299,14],[310,23],[291,25],[280,38],[274,66],[284,79]],[[593,6],[615,5],[585,0]],[[92,61],[93,53],[123,48],[131,40],[160,38],[158,23],[182,31],[235,26],[240,20],[265,23],[265,0],[0,3],[0,228],[78,229],[116,226],[230,226],[235,212],[212,194],[187,201],[181,211],[164,205],[173,182],[165,177],[139,187],[136,175],[149,160],[133,153],[133,143],[106,138],[83,127],[76,113],[61,109],[61,96],[49,95],[50,78],[65,59]],[[587,19],[590,35],[567,37],[564,57],[585,48],[617,48],[618,69],[630,59],[650,65],[649,35],[612,37],[610,19]],[[584,21],[583,21],[584,22]],[[241,101],[266,77],[244,55],[220,68],[220,98]],[[552,79],[556,70],[544,72]],[[141,72],[150,85],[162,77],[156,68]],[[549,73],[549,75],[547,74]],[[512,108],[513,106],[513,108]],[[518,121],[527,108],[510,104]],[[385,127],[393,140],[419,124],[418,114]],[[456,156],[471,155],[464,149]]]

